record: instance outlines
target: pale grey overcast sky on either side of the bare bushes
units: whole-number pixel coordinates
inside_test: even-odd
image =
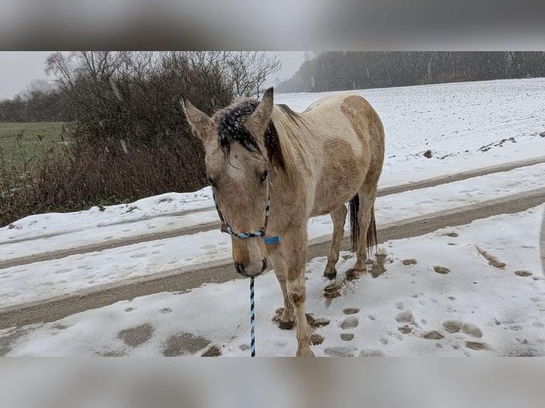
[[[53,51],[0,51],[0,100],[12,98],[32,80],[46,79],[46,57]],[[303,61],[304,51],[271,51],[282,61],[282,71],[275,75],[291,77]],[[271,78],[274,80],[274,78]]]

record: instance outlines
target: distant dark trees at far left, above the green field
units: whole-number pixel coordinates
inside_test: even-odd
[[[0,100],[0,122],[58,122],[66,119],[60,90],[31,90]]]

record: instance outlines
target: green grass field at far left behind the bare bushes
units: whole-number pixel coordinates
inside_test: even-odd
[[[23,170],[39,161],[48,149],[59,149],[66,141],[63,122],[0,123],[0,154],[8,166]]]

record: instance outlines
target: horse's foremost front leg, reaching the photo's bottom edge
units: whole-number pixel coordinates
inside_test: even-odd
[[[282,252],[287,267],[286,289],[297,322],[297,357],[313,357],[310,350],[310,330],[305,314],[305,269],[307,267],[306,224],[282,236]]]

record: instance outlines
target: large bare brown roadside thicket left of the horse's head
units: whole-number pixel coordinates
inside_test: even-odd
[[[260,53],[252,55],[50,55],[46,72],[55,75],[63,95],[71,143],[60,152],[51,149],[25,173],[0,163],[0,224],[35,213],[125,203],[205,186],[203,148],[191,134],[181,96],[211,114],[238,92],[260,92],[267,69],[278,67],[263,68],[270,61]]]

